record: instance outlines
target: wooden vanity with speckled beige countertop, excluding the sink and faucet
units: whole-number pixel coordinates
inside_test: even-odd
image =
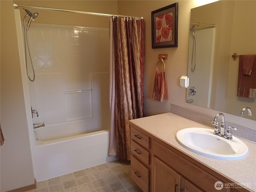
[[[208,158],[182,147],[176,133],[212,128],[173,113],[130,120],[131,177],[144,192],[253,192],[256,144],[241,139],[249,154],[239,160]]]

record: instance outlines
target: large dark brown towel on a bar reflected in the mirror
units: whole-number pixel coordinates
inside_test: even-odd
[[[254,64],[250,70],[251,64],[246,64],[248,58],[244,55],[239,56],[239,69],[238,69],[238,83],[237,83],[237,96],[255,98],[256,96],[256,57],[254,57]],[[251,60],[251,59],[250,59]],[[250,75],[244,74],[244,65],[246,70],[250,70]]]

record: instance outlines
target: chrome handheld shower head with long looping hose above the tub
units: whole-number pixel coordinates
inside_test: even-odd
[[[24,9],[24,8],[23,8]],[[39,15],[38,12],[36,13],[32,13],[30,12],[29,10],[27,9],[24,9],[26,11],[26,15],[24,16],[24,47],[25,47],[25,60],[26,60],[26,70],[27,70],[27,75],[28,75],[28,78],[30,81],[34,81],[35,80],[35,70],[34,70],[34,65],[33,65],[33,62],[32,62],[32,58],[31,58],[31,54],[30,54],[30,48],[29,48],[29,44],[28,44],[28,29],[29,29],[29,26],[30,26],[30,23],[31,21],[35,18],[37,18],[37,16]],[[29,20],[28,20],[28,24],[27,24],[27,27],[25,28],[25,20],[26,20],[26,17],[27,16],[30,16]],[[33,79],[30,78],[29,74],[28,74],[28,60],[27,60],[27,48],[26,46],[28,45],[28,53],[29,53],[29,57],[30,57],[30,61],[31,61],[31,65],[32,65],[32,70],[33,70]]]

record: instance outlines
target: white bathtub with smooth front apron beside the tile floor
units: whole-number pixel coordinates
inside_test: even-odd
[[[83,124],[76,121],[34,129],[38,182],[116,160],[108,156],[109,131],[85,131]]]

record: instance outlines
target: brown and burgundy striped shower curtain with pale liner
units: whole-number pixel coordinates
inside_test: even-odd
[[[144,20],[110,19],[109,155],[130,160],[128,121],[144,110]]]

